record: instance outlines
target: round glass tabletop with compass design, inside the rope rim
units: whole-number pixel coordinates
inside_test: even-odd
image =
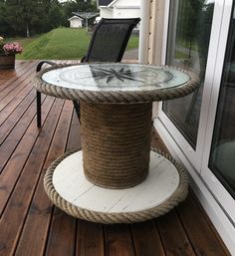
[[[189,76],[170,67],[97,63],[62,67],[43,74],[54,86],[93,92],[151,91],[183,86]]]

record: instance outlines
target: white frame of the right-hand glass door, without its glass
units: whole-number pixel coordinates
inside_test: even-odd
[[[230,221],[235,226],[235,200],[229,194],[229,192],[225,189],[222,183],[217,179],[217,177],[213,174],[213,172],[208,167],[209,157],[210,157],[210,150],[212,144],[212,136],[214,130],[214,123],[216,118],[216,111],[217,111],[217,103],[219,99],[220,93],[220,85],[221,85],[221,78],[223,75],[223,64],[225,59],[225,52],[227,47],[227,38],[229,33],[229,25],[230,25],[230,17],[232,15],[232,0],[226,0],[226,4],[224,7],[224,15],[222,20],[222,27],[221,27],[221,36],[218,45],[218,54],[217,60],[215,65],[215,73],[213,79],[213,88],[211,93],[211,100],[209,106],[209,114],[208,115],[208,122],[207,122],[207,129],[205,133],[205,141],[204,141],[204,150],[203,150],[203,157],[202,157],[202,168],[201,168],[201,176],[203,180],[207,183],[208,187],[210,187],[211,192],[220,202],[221,206],[224,208],[225,212],[227,213]]]

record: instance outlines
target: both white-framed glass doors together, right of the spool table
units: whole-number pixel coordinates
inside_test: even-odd
[[[235,0],[168,3],[165,63],[193,71],[201,84],[164,102],[157,124],[235,223]]]

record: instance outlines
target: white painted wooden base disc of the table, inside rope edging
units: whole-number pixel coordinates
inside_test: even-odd
[[[107,189],[88,181],[82,151],[65,158],[53,174],[53,185],[61,197],[80,208],[104,213],[137,212],[158,206],[173,194],[179,181],[176,167],[153,151],[147,178],[126,189]]]

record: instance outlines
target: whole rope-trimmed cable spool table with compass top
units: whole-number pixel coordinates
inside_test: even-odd
[[[44,187],[55,205],[100,223],[144,221],[166,213],[187,194],[185,170],[150,148],[153,101],[186,96],[198,76],[173,67],[94,63],[37,74],[41,93],[80,101],[82,150],[54,161]]]

